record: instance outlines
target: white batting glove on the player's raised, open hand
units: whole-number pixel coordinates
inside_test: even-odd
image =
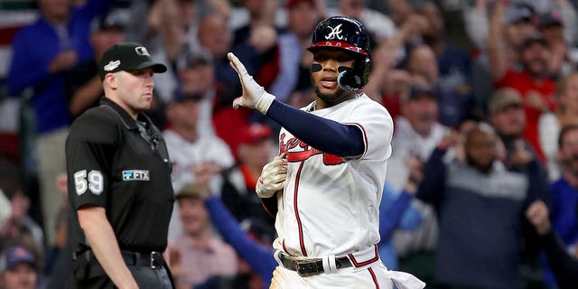
[[[256,83],[255,79],[247,72],[245,65],[238,60],[235,54],[228,52],[227,57],[231,67],[237,71],[238,79],[243,86],[243,95],[233,100],[233,108],[237,109],[239,106],[256,108],[265,115],[269,107],[271,107],[275,96],[267,93],[262,86]]]

